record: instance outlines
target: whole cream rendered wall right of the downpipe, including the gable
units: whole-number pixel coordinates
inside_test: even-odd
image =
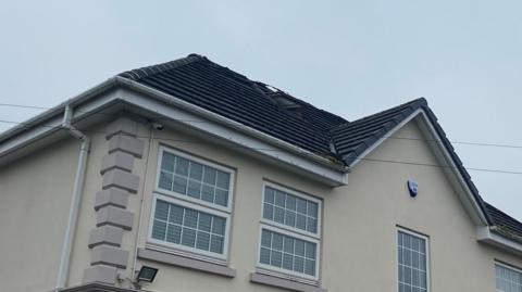
[[[141,125],[139,139],[147,140],[142,137],[149,135]],[[135,219],[133,230],[125,232],[122,243],[122,247],[129,251],[128,265],[122,271],[122,278],[132,278],[135,247],[147,245],[160,145],[172,147],[236,170],[229,267],[236,269],[237,276],[226,278],[138,259],[137,267],[149,265],[160,268],[154,282],[144,285],[146,290],[284,291],[249,281],[250,274],[256,270],[263,179],[324,199],[320,281],[328,291],[397,291],[397,226],[428,236],[432,291],[494,291],[495,259],[522,266],[520,256],[477,243],[475,226],[440,168],[362,161],[350,173],[348,186],[331,189],[234,149],[213,144],[210,140],[183,142],[201,141],[201,138],[179,130],[154,130],[153,136],[161,138],[152,139],[150,151],[146,141],[145,156],[136,162],[133,170],[141,177],[140,189],[144,191],[129,196],[127,210],[135,214]],[[423,138],[414,122],[396,136]],[[89,164],[88,185],[92,190],[84,196],[87,206],[92,206],[94,194],[101,185],[99,165],[107,151],[107,141],[100,139],[97,147],[100,153],[96,154],[94,149],[92,165]],[[389,139],[369,158],[437,164],[427,144],[415,140]],[[410,178],[420,185],[417,199],[408,194],[406,181]],[[88,230],[96,224],[95,213],[91,207],[83,212],[79,226],[83,231],[75,247],[71,285],[82,282],[82,274],[89,266],[91,253],[86,247],[86,241]],[[117,285],[128,288],[129,281],[122,280]]]

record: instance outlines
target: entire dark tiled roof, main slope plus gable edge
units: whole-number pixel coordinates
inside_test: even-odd
[[[484,202],[424,98],[348,122],[260,81],[253,81],[206,56],[189,54],[172,62],[119,74],[185,100],[313,153],[336,157],[350,166],[362,153],[412,113],[422,110],[440,143],[489,224],[522,237],[522,223]]]

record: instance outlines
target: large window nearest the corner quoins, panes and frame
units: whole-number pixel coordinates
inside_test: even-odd
[[[160,149],[149,242],[226,259],[234,172]]]

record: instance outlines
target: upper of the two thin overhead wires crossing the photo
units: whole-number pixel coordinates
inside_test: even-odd
[[[9,106],[9,107],[18,107],[18,109],[33,109],[33,110],[50,110],[52,107],[46,106],[37,106],[37,105],[24,105],[24,104],[14,104],[14,103],[0,103],[0,106]],[[87,113],[83,111],[77,111],[79,113]],[[107,113],[95,113],[97,115],[110,115]],[[160,118],[158,122],[161,120],[176,120],[176,122],[185,122],[185,123],[211,123],[208,120],[199,120],[199,119],[176,119],[176,118]],[[405,140],[405,141],[425,141],[425,142],[434,142],[434,143],[443,143],[440,140],[435,139],[422,139],[422,138],[409,138],[409,137],[397,137],[397,136],[384,136],[385,139],[394,139],[394,140]],[[508,144],[508,143],[493,143],[493,142],[472,142],[472,141],[452,141],[449,142],[453,144],[462,144],[462,145],[476,145],[476,147],[490,147],[490,148],[508,148],[508,149],[522,149],[522,145],[519,144]]]

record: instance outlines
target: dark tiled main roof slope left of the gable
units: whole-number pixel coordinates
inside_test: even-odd
[[[190,54],[169,63],[120,74],[148,87],[252,127],[320,155],[331,153],[328,129],[343,117],[271,89],[244,75]],[[286,97],[300,114],[283,110],[274,97]]]

